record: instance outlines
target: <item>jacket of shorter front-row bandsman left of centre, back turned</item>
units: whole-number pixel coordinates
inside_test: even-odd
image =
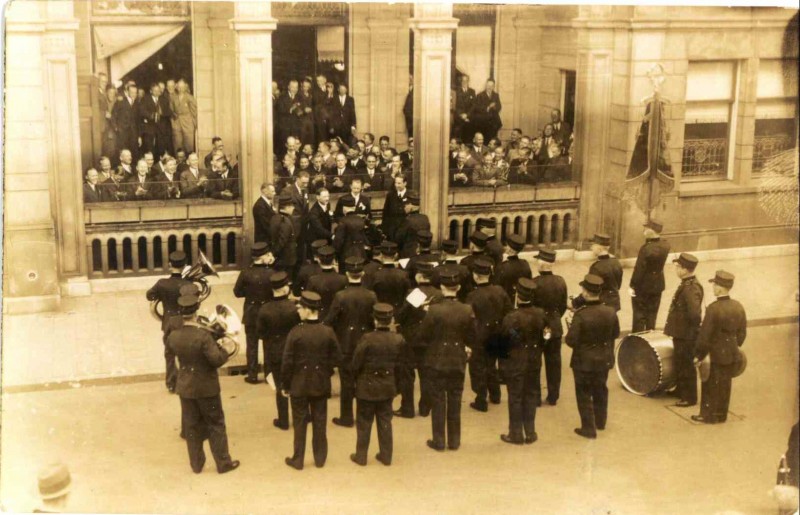
[[[383,401],[397,395],[395,378],[405,345],[403,337],[390,332],[388,327],[378,328],[361,337],[353,354],[356,398]]]

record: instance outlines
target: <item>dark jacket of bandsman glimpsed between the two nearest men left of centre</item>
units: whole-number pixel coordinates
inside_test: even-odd
[[[372,306],[377,302],[374,292],[356,284],[350,284],[334,295],[330,310],[325,316],[325,324],[336,331],[345,356],[352,356],[361,336],[372,330]]]

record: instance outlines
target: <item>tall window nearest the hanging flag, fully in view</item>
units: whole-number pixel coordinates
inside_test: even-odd
[[[733,61],[689,63],[681,171],[684,179],[731,178],[737,75]]]

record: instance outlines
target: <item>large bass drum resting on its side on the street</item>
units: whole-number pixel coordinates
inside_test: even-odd
[[[634,333],[617,346],[617,375],[636,395],[650,395],[675,386],[672,338],[659,331]]]

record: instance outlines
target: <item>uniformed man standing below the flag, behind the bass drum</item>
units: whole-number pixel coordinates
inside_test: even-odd
[[[638,333],[655,329],[661,293],[664,291],[664,263],[669,255],[669,242],[661,239],[663,226],[655,220],[644,224],[645,244],[639,249],[631,276],[633,328]]]

